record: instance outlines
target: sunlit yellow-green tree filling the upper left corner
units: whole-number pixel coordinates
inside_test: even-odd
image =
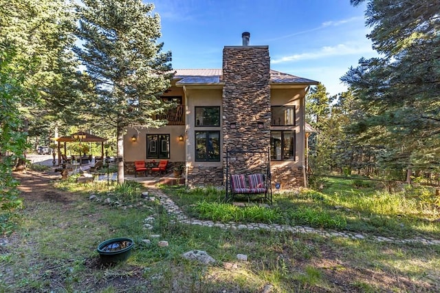
[[[1,51],[13,48],[10,66],[21,76],[22,93],[27,92],[15,97],[23,118],[17,129],[25,133],[41,131],[32,127],[41,126],[37,121],[44,120],[42,125],[47,127],[75,113],[73,24],[72,6],[64,0],[0,0]],[[19,160],[17,169],[23,167],[24,161]]]

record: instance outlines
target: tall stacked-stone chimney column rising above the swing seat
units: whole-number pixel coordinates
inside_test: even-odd
[[[223,170],[226,148],[267,151],[270,147],[270,56],[267,46],[227,46],[223,49]],[[257,127],[263,123],[263,129]],[[231,124],[235,123],[235,128]],[[258,155],[257,155],[258,157]],[[267,157],[251,153],[230,160],[231,173],[255,173]],[[225,173],[224,173],[225,174]]]

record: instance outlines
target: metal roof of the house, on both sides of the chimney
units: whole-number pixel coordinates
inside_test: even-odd
[[[175,79],[177,85],[212,85],[221,84],[222,69],[176,69]],[[277,72],[270,69],[271,84],[289,84],[289,85],[318,85],[318,81]]]

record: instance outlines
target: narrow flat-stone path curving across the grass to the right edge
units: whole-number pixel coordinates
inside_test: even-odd
[[[319,230],[315,228],[310,228],[307,226],[288,226],[288,225],[280,225],[280,224],[263,224],[263,223],[247,223],[240,224],[236,222],[228,222],[228,223],[216,223],[214,221],[200,220],[200,219],[192,219],[187,217],[177,206],[172,199],[170,199],[167,195],[162,193],[157,188],[149,188],[148,190],[150,196],[157,197],[164,208],[167,210],[168,214],[175,215],[177,221],[181,223],[190,224],[190,225],[199,225],[199,226],[207,226],[207,227],[219,227],[222,229],[248,229],[248,230],[274,230],[274,231],[289,231],[294,233],[314,233],[317,235],[321,235],[322,237],[345,237],[350,239],[366,239],[373,240],[377,242],[391,242],[391,243],[423,243],[426,245],[440,245],[440,240],[437,239],[425,239],[421,237],[415,237],[412,239],[397,239],[395,237],[382,237],[382,236],[373,236],[373,235],[364,235],[362,233],[355,232],[341,232],[336,230]]]

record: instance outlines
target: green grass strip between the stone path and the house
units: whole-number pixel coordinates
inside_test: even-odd
[[[261,222],[348,230],[384,237],[437,239],[440,217],[433,188],[406,186],[396,193],[355,178],[322,181],[322,192],[305,189],[274,195],[274,206],[232,206],[217,188],[164,186],[188,215],[219,222]]]

